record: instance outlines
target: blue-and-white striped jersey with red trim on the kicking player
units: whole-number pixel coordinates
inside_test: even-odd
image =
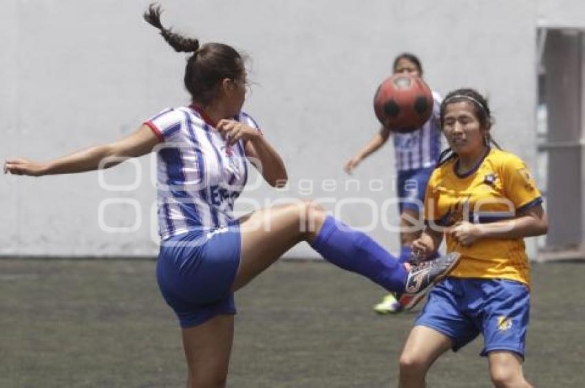
[[[259,130],[243,111],[235,120]],[[231,147],[193,107],[164,109],[145,122],[161,140],[157,203],[161,239],[227,226],[248,177],[244,141]]]

